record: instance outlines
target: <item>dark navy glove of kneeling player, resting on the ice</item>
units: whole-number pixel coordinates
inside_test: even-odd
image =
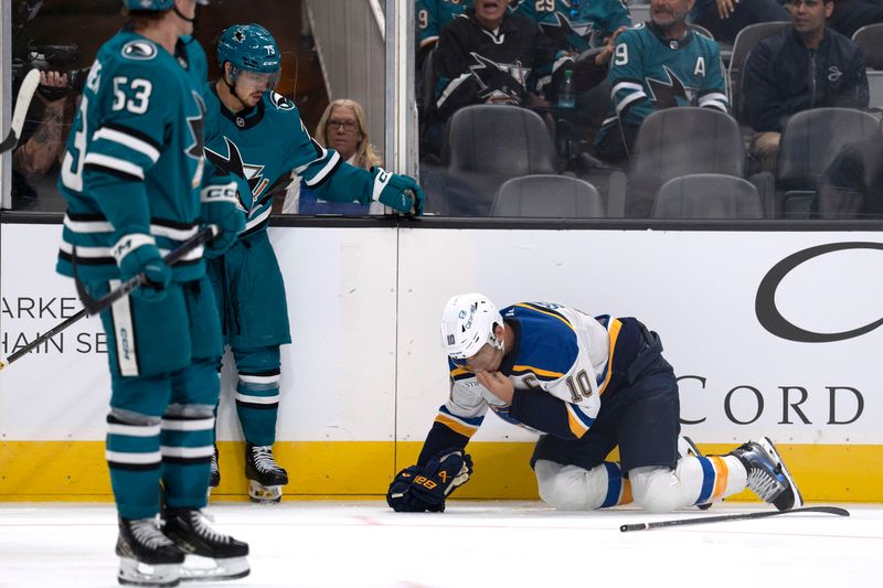
[[[444,512],[445,499],[472,473],[472,458],[459,449],[445,449],[424,467],[412,466],[396,474],[386,503],[395,512]]]

